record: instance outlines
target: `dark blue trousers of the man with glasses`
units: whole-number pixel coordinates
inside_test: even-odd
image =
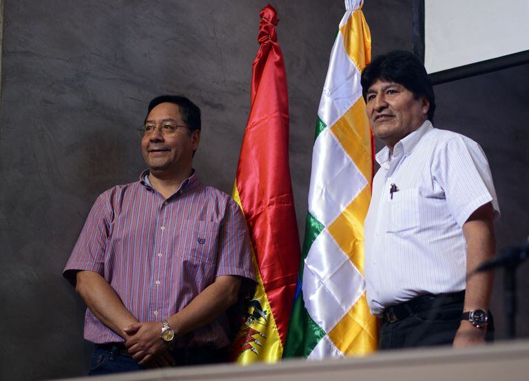
[[[212,347],[177,348],[172,351],[172,356],[176,362],[176,367],[215,364],[227,361],[227,350]],[[127,354],[123,344],[96,344],[88,374],[102,375],[140,371],[142,369],[144,367]]]

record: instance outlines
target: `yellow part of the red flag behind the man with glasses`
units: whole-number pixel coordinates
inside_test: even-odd
[[[245,211],[242,209],[239,191],[237,189],[237,180],[234,183],[234,189],[231,193],[231,197],[234,198],[235,202],[242,210],[242,214],[244,214]],[[257,280],[256,293],[254,294],[253,298],[259,300],[263,311],[267,312],[268,322],[266,327],[263,327],[262,325],[255,326],[256,323],[250,325],[250,327],[253,327],[256,329],[256,331],[263,333],[264,337],[260,335],[253,336],[258,340],[249,342],[249,344],[255,349],[257,353],[252,350],[243,351],[236,359],[236,361],[242,365],[251,364],[255,361],[277,362],[282,358],[283,355],[283,346],[281,344],[278,327],[276,326],[276,320],[273,318],[273,313],[270,308],[267,293],[264,291],[264,287],[262,285],[262,278],[257,265],[256,254],[253,252],[253,247],[251,248],[251,260],[253,262],[253,269],[255,271]],[[258,344],[258,342],[260,344]],[[238,349],[234,348],[234,351],[238,352]]]

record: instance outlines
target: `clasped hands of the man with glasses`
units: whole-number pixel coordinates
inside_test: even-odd
[[[154,367],[174,364],[173,358],[165,355],[167,344],[160,338],[161,322],[138,322],[123,331],[130,336],[125,342],[125,347],[139,364]]]

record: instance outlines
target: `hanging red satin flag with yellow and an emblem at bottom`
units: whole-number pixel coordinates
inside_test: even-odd
[[[231,347],[234,360],[282,357],[300,261],[289,171],[289,103],[276,10],[260,12],[253,61],[251,110],[233,197],[245,214],[258,285]]]

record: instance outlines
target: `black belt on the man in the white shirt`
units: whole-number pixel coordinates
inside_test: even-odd
[[[450,294],[417,296],[417,298],[413,298],[407,302],[384,309],[384,312],[382,312],[382,322],[385,324],[396,322],[408,318],[408,316],[414,313],[428,311],[450,303],[464,302],[464,300],[465,290]]]

